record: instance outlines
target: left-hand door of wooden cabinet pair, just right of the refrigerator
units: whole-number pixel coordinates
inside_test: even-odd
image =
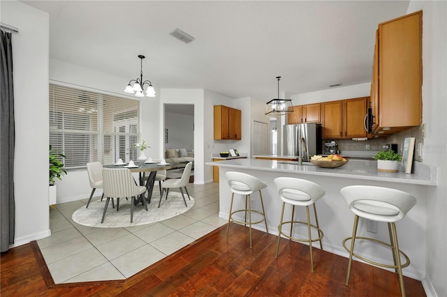
[[[342,108],[342,101],[321,103],[321,115],[323,116],[323,138],[343,137]]]

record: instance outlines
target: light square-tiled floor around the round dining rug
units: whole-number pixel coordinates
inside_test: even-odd
[[[195,200],[191,210],[135,227],[105,229],[73,222],[71,215],[88,197],[50,208],[52,236],[38,245],[54,283],[126,279],[226,224],[218,216],[219,183],[190,183],[187,188]]]

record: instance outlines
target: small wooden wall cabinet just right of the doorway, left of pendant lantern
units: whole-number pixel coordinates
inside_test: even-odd
[[[214,139],[242,139],[241,111],[214,105]]]

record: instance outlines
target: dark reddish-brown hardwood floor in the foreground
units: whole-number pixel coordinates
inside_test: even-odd
[[[1,254],[4,296],[400,296],[394,273],[232,224],[223,226],[125,281],[54,284],[35,242]],[[324,247],[323,247],[324,248]],[[140,254],[135,254],[138,261]],[[404,277],[406,296],[425,296],[420,281]]]

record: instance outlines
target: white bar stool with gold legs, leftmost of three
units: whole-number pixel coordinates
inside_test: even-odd
[[[244,174],[241,172],[226,172],[225,176],[228,181],[228,185],[230,185],[230,189],[232,192],[231,204],[230,204],[230,215],[228,216],[228,227],[226,229],[226,237],[228,238],[231,221],[237,222],[240,224],[244,224],[244,226],[246,226],[246,227],[248,224],[249,229],[250,229],[250,248],[251,248],[252,247],[252,245],[251,245],[251,225],[252,224],[258,224],[260,222],[265,222],[265,231],[267,231],[267,233],[268,233],[267,219],[265,218],[265,210],[264,210],[264,203],[263,203],[263,195],[261,194],[261,190],[264,188],[267,188],[267,184],[254,176],[251,176],[249,174]],[[261,211],[256,211],[256,210],[251,209],[251,201],[250,201],[251,194],[254,192],[258,192],[258,191],[259,191],[259,197],[261,198],[261,206],[263,208],[262,213],[261,213]],[[233,198],[235,197],[235,194],[245,196],[245,209],[233,211]],[[247,204],[248,204],[248,207],[247,207]],[[245,213],[245,218],[243,221],[236,220],[235,218],[233,218],[233,215],[235,213],[240,213],[242,211]],[[248,220],[247,220],[247,211],[249,213]],[[261,218],[261,220],[258,220],[256,222],[253,222],[251,220],[251,213],[259,213],[263,216],[263,218]]]

